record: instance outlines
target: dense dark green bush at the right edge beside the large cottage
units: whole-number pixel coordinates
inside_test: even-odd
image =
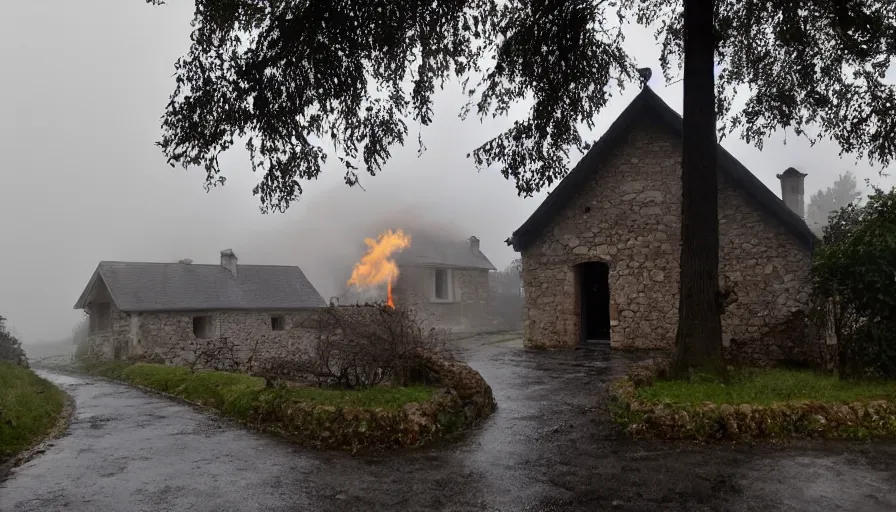
[[[814,318],[841,377],[896,378],[896,188],[831,216],[812,268]]]

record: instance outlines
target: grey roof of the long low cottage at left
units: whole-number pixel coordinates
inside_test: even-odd
[[[103,261],[75,309],[84,309],[98,281],[122,311],[306,309],[325,307],[299,267],[239,265],[236,277],[220,265]]]

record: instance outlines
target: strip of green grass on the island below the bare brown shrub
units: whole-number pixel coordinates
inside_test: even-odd
[[[101,363],[85,366],[97,375],[163,391],[241,417],[258,400],[291,400],[334,407],[399,409],[428,400],[433,388],[425,386],[376,387],[357,391],[320,388],[265,389],[264,379],[241,373],[198,371],[158,364]]]

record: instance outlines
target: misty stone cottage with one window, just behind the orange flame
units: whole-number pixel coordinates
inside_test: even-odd
[[[399,276],[393,287],[396,306],[410,306],[426,320],[454,330],[491,326],[489,271],[495,266],[466,241],[412,234],[411,247],[395,256]]]

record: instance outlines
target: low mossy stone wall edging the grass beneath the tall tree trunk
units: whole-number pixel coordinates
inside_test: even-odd
[[[633,366],[626,377],[611,385],[614,420],[629,436],[698,441],[896,438],[896,403],[887,400],[768,406],[639,400],[637,389],[650,386],[668,369],[668,360],[648,361]]]

